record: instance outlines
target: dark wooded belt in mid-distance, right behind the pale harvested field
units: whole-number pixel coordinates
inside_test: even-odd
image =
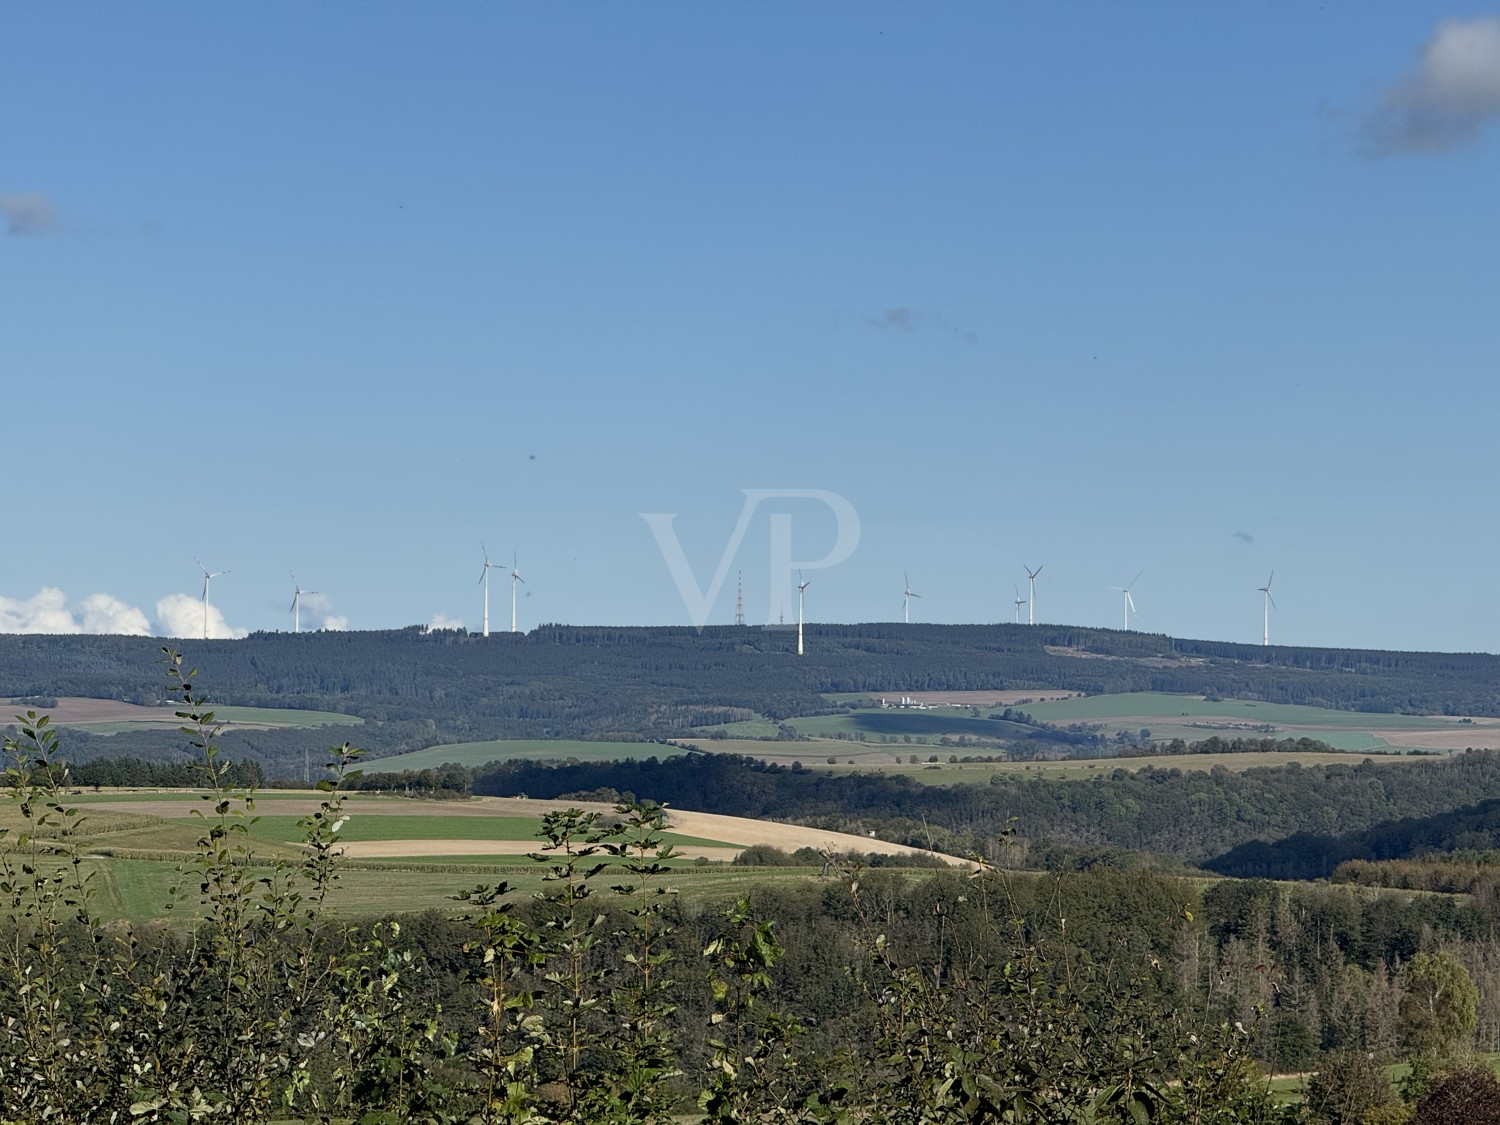
[[[994,774],[988,784],[952,786],[874,771],[834,774],[732,754],[684,754],[576,765],[494,764],[474,771],[472,786],[476,794],[528,796],[606,789],[681,808],[873,831],[898,843],[932,843],[994,862],[1004,861],[1002,832],[1014,828],[1017,838],[1006,838],[1006,848],[1062,844],[1077,855],[1144,852],[1224,874],[1260,876],[1269,872],[1245,856],[1282,846],[1292,852],[1296,844],[1251,842],[1365,832],[1384,822],[1450,816],[1458,804],[1500,798],[1500,753],[1479,750],[1400,764],[1288,764],[1244,772],[1116,768],[1077,782]],[[1458,846],[1474,843],[1455,840]],[[1316,868],[1278,868],[1275,874],[1326,876],[1340,861],[1356,856],[1388,858],[1368,849],[1348,850],[1318,858]]]

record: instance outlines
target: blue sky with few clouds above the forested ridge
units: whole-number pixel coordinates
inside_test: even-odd
[[[0,630],[1497,650],[1492,8],[0,14]]]

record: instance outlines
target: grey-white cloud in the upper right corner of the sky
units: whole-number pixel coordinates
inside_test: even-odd
[[[1371,156],[1437,153],[1500,120],[1500,16],[1444,20],[1412,70],[1366,112]]]

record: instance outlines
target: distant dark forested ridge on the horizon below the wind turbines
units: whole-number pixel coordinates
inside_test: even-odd
[[[182,651],[216,702],[346,712],[364,720],[346,736],[372,756],[490,738],[682,738],[758,716],[838,710],[826,693],[1149,690],[1500,714],[1500,658],[1485,654],[1264,648],[1064,626],[812,626],[807,642],[807,656],[795,657],[795,634],[774,628],[543,626],[486,639],[411,627],[255,633]],[[0,694],[156,704],[158,658],[150,638],[6,634]],[[326,742],[327,734],[298,729],[224,738],[226,753],[258,759],[272,777],[302,776],[304,756]],[[166,758],[171,746],[170,735],[132,732],[80,736],[70,753]]]

